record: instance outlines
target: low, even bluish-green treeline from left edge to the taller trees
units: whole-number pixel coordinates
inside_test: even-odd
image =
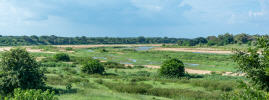
[[[1,46],[17,45],[75,45],[75,44],[158,44],[177,43],[183,38],[168,37],[58,37],[58,36],[0,36]]]

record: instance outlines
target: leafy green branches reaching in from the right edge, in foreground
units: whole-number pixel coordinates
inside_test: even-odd
[[[255,48],[248,51],[235,51],[233,59],[238,63],[238,70],[245,73],[254,85],[269,90],[269,40],[258,39]]]

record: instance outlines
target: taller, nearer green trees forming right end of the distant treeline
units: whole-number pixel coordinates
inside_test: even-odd
[[[245,33],[233,35],[230,33],[221,34],[218,36],[198,37],[195,39],[179,40],[177,44],[179,46],[196,46],[196,45],[208,45],[208,46],[223,46],[228,44],[248,44],[256,45],[257,38],[259,37],[269,38],[268,35],[248,35]]]

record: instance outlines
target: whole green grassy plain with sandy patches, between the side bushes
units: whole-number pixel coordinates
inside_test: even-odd
[[[234,74],[237,65],[227,50],[227,53],[197,48],[174,51],[164,50],[161,45],[142,44],[24,48],[41,63],[47,76],[46,83],[59,90],[60,100],[221,100],[223,93],[238,89],[237,80],[245,80]],[[59,52],[69,54],[71,61],[51,61],[50,58]],[[80,71],[79,60],[89,57],[103,63],[117,62],[125,67],[106,68],[105,75],[84,74]],[[159,76],[158,68],[169,58],[183,61],[188,77]],[[70,83],[72,89],[67,90]]]

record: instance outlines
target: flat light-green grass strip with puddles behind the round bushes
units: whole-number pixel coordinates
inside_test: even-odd
[[[78,49],[74,55],[95,57],[102,61],[120,62],[134,65],[161,65],[169,58],[179,58],[187,68],[209,71],[236,71],[231,55],[227,54],[199,54],[173,51],[135,51],[122,48],[107,47],[108,52],[99,52],[103,48]],[[130,49],[130,48],[128,48]],[[92,50],[93,52],[88,52]]]

